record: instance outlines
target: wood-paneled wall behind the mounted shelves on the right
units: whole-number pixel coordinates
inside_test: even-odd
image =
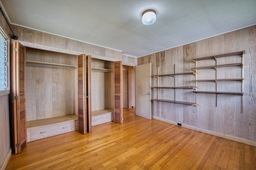
[[[191,90],[176,90],[176,100],[197,102],[197,107],[164,102],[152,102],[152,115],[163,120],[182,123],[195,129],[204,129],[215,134],[223,134],[249,141],[256,141],[256,25],[225,33],[173,49],[138,58],[138,65],[152,63],[152,75],[175,72],[191,72],[195,67],[193,58],[206,57],[245,50],[244,55],[244,109],[239,95],[219,94],[216,107],[214,94],[198,93]],[[225,57],[217,64],[239,63],[241,57]],[[198,66],[214,65],[214,60],[197,63]],[[241,67],[217,69],[218,78],[241,78]],[[215,70],[198,70],[197,79],[214,79]],[[176,76],[176,86],[193,86],[195,76]],[[160,78],[160,86],[173,86],[172,77]],[[152,78],[152,86],[157,84]],[[215,91],[214,82],[198,82],[197,90]],[[241,81],[218,82],[218,91],[241,91]],[[177,95],[178,94],[178,95]],[[174,99],[173,90],[160,90],[160,98]],[[152,98],[157,98],[153,91]],[[196,100],[197,99],[197,100]],[[223,136],[222,135],[222,136]]]

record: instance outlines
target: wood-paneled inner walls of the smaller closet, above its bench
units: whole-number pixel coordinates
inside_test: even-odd
[[[113,69],[113,62],[92,59],[93,68]],[[92,111],[113,109],[113,72],[92,70]]]

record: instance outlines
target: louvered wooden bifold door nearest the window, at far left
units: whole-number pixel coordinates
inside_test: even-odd
[[[14,147],[15,153],[20,153],[27,145],[26,127],[26,84],[25,61],[26,50],[23,45],[13,41],[12,49],[12,90],[14,103]]]

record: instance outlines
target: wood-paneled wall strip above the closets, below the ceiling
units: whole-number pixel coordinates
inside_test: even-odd
[[[136,58],[130,56],[123,57],[121,51],[108,49],[17,25],[12,25],[12,29],[15,35],[18,36],[18,41],[21,41],[22,45],[26,47],[45,49],[48,51],[58,51],[73,55],[80,55],[84,53],[86,55],[92,55],[92,58],[94,59],[106,61],[124,60],[123,64],[131,66],[135,66],[137,64]]]

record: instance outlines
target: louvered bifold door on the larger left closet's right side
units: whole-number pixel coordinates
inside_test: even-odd
[[[78,132],[86,134],[86,55],[77,56]]]

